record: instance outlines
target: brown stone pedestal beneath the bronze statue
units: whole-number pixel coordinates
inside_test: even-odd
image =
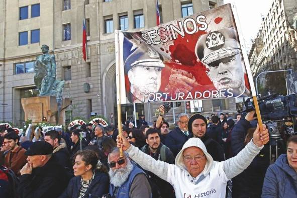
[[[25,121],[32,123],[42,122],[43,117],[53,125],[65,125],[65,109],[70,105],[69,98],[63,98],[60,116],[58,118],[58,105],[55,96],[37,96],[22,98],[25,112]]]

